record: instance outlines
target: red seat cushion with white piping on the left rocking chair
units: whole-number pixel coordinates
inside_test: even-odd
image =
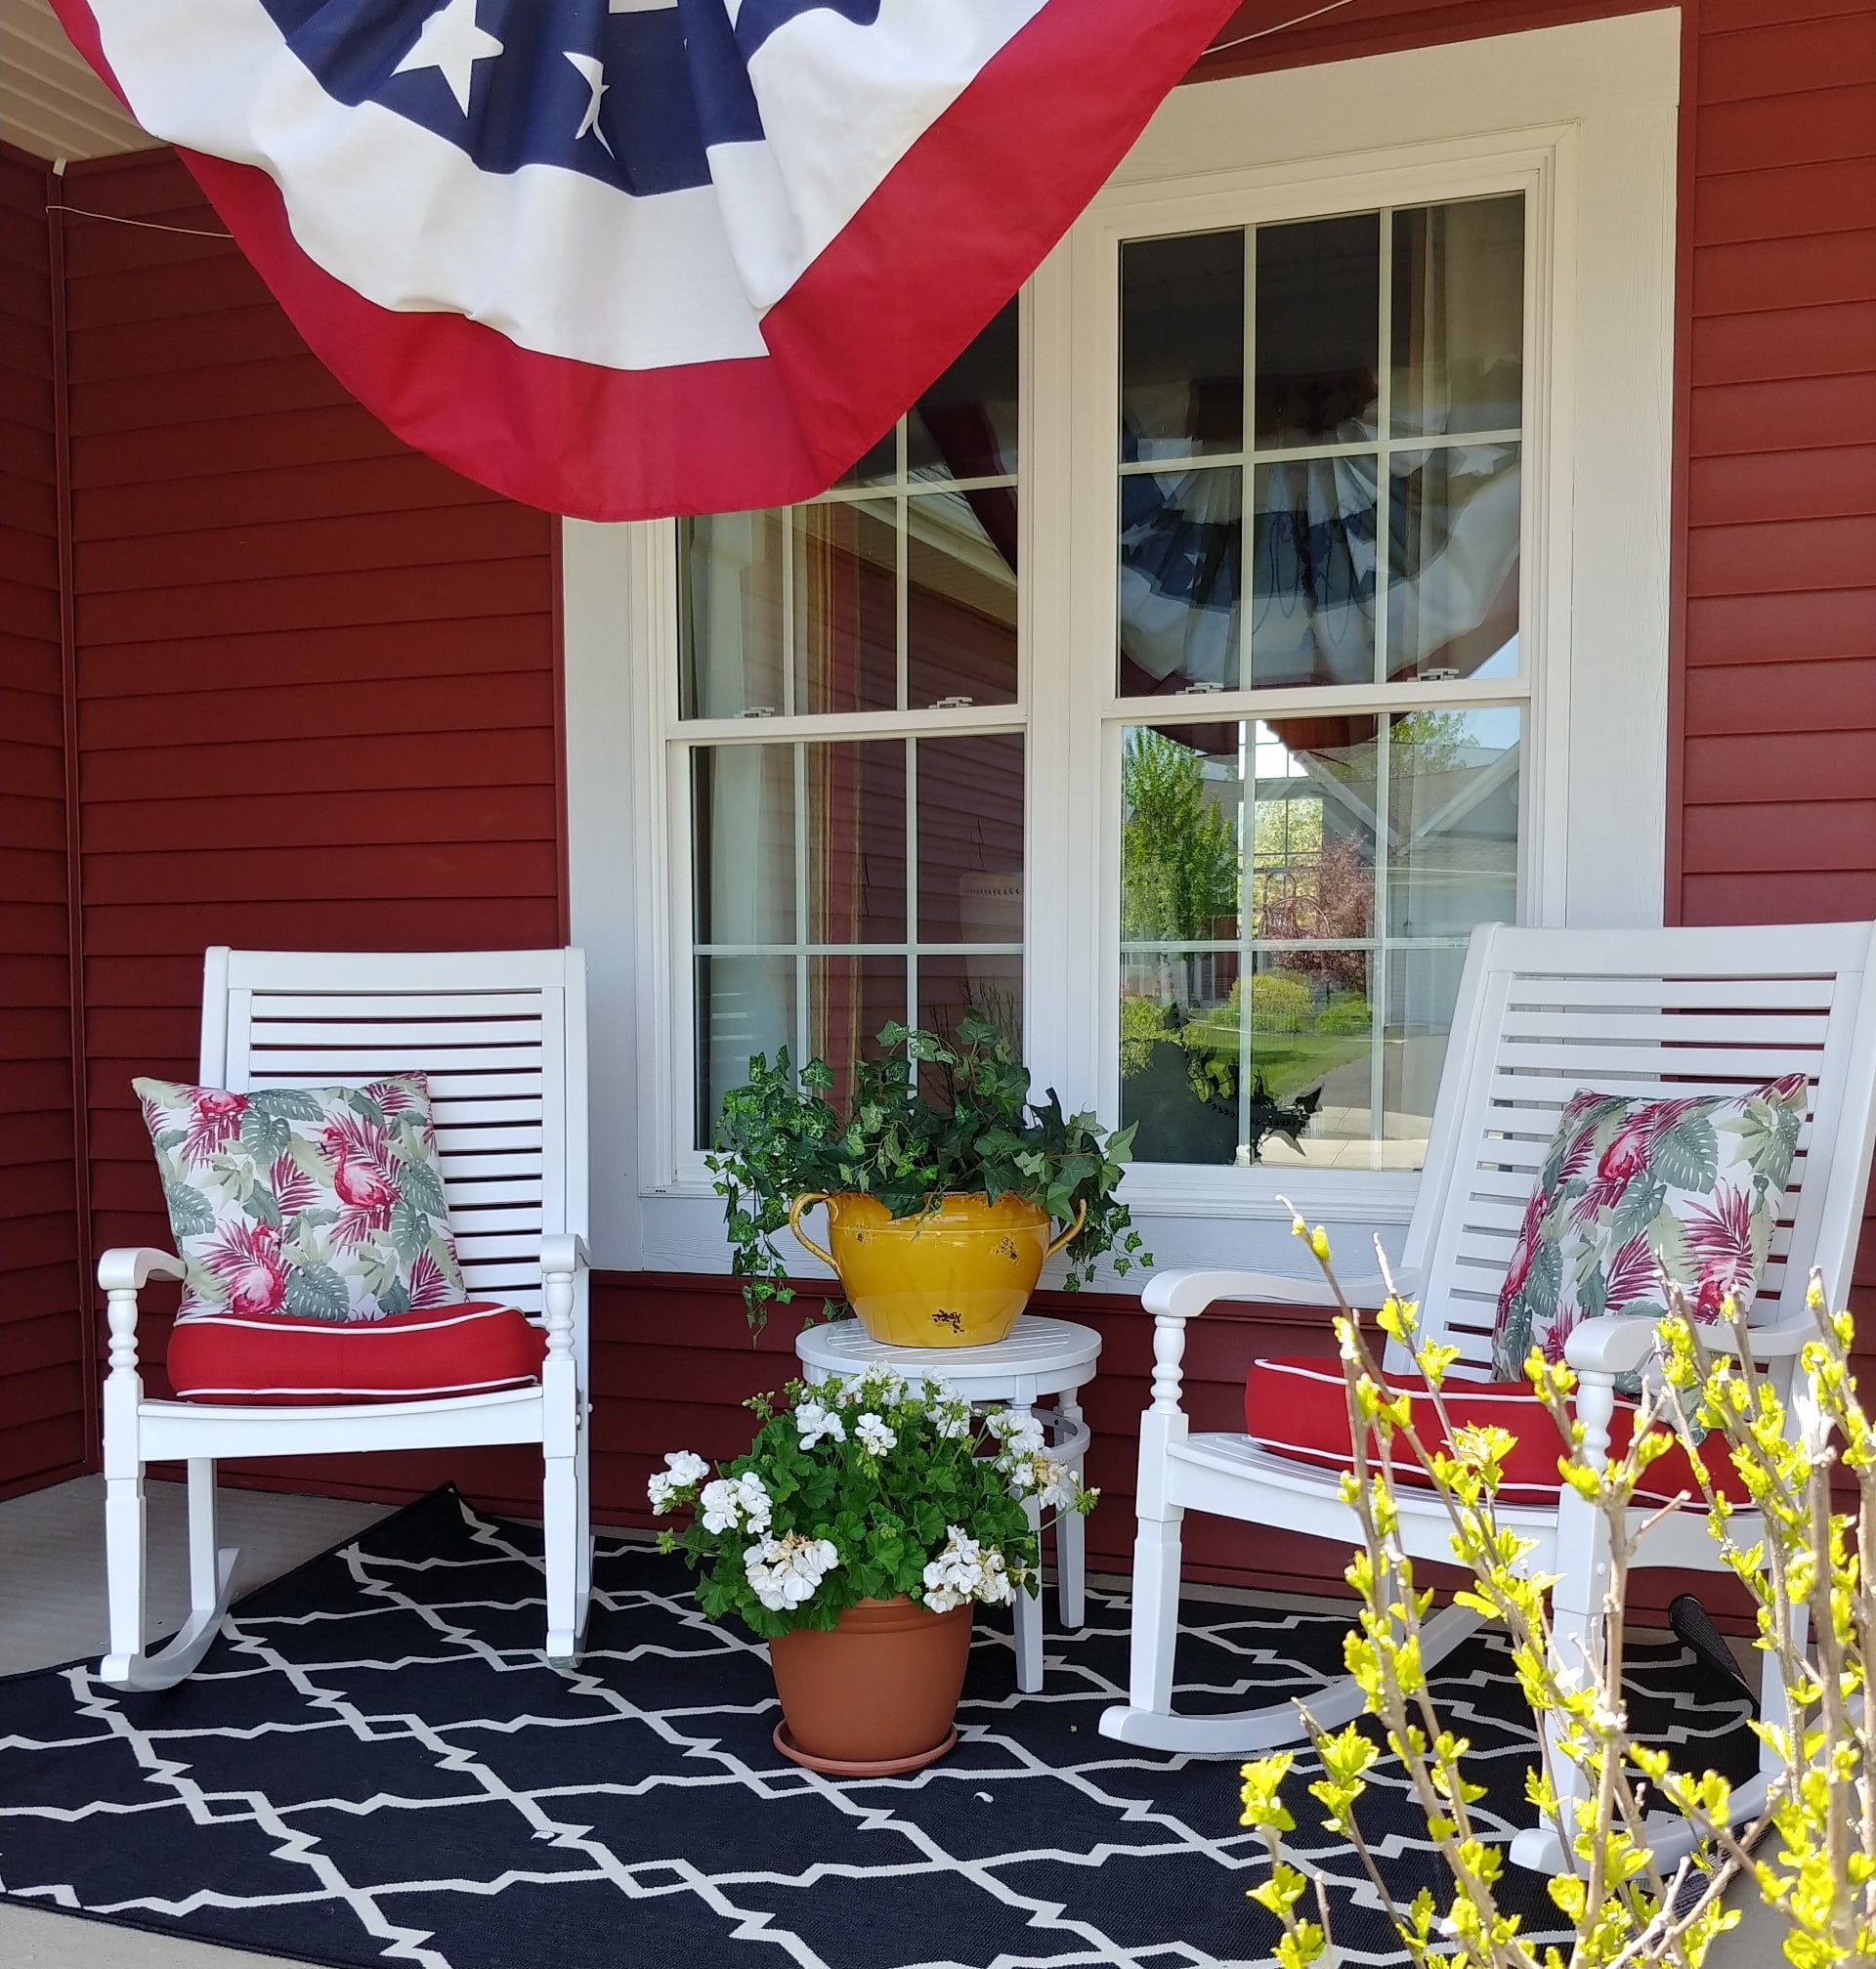
[[[185,1402],[421,1402],[539,1380],[539,1327],[492,1300],[386,1319],[205,1313],[169,1335],[169,1384]]]

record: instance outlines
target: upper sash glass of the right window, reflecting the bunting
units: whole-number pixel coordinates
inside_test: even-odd
[[[1120,266],[1118,693],[1516,673],[1524,199]]]

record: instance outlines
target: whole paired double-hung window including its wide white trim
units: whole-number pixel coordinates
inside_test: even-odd
[[[821,498],[569,528],[612,1262],[720,1268],[752,1053],[972,1006],[1161,1262],[1400,1223],[1470,929],[1659,920],[1671,28],[1439,55],[1177,91]]]

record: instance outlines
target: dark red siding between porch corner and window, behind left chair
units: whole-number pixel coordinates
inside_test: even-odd
[[[220,230],[165,152],[69,183]],[[91,1239],[165,1240],[130,1077],[193,1075],[205,945],[561,941],[553,522],[400,445],[224,238],[75,221],[67,313]]]

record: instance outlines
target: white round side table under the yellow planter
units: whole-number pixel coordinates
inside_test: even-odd
[[[1094,1378],[1100,1335],[1067,1319],[1024,1313],[1000,1341],[988,1347],[886,1347],[870,1339],[858,1319],[833,1319],[803,1327],[795,1353],[807,1380],[858,1374],[884,1361],[898,1374],[925,1374],[945,1380],[970,1402],[1026,1408],[1043,1426],[1049,1453],[1067,1463],[1081,1481],[1089,1447],[1089,1426],[1081,1420],[1077,1396]],[[1053,1398],[1051,1408],[1039,1406]],[[1030,1500],[1030,1522],[1041,1522],[1041,1508]],[[1055,1526],[1055,1595],[1065,1628],[1085,1620],[1085,1528],[1071,1510]],[[1016,1595],[1016,1685],[1033,1695],[1041,1687],[1041,1595]]]

